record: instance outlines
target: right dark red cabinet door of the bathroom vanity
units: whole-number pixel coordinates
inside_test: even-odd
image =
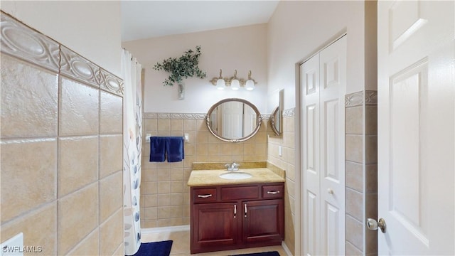
[[[243,241],[281,245],[284,238],[282,199],[242,202]]]

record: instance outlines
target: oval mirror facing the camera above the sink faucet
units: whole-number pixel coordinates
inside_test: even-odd
[[[242,99],[225,99],[208,110],[208,130],[223,142],[245,142],[261,127],[261,114],[255,105]]]

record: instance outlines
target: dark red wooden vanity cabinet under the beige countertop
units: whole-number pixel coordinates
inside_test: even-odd
[[[191,253],[281,245],[284,183],[191,188]]]

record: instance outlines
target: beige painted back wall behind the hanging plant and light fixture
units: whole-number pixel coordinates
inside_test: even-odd
[[[259,24],[214,31],[186,33],[176,36],[148,38],[122,43],[142,64],[144,76],[144,112],[206,113],[219,100],[239,97],[267,113],[267,25]],[[180,57],[185,50],[202,46],[199,67],[207,78],[185,80],[185,100],[177,100],[177,86],[164,87],[164,71],[153,69],[165,58]],[[248,70],[258,83],[253,91],[216,90],[209,80],[219,76],[230,77],[237,70],[238,78],[247,78]]]

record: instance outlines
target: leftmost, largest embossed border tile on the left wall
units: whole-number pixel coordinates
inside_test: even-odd
[[[1,52],[58,73],[60,45],[1,12]]]

